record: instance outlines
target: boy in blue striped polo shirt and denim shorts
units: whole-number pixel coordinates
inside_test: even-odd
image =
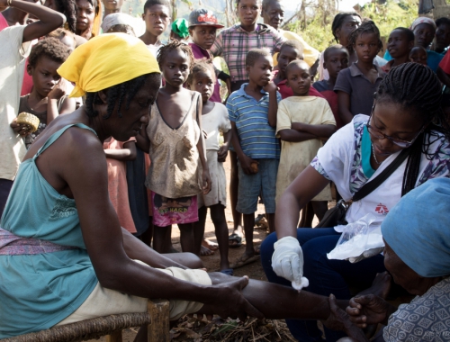
[[[275,231],[275,184],[280,160],[280,143],[275,138],[276,112],[281,94],[271,81],[273,59],[268,49],[247,53],[248,83],[229,95],[227,109],[233,131],[232,144],[238,155],[238,205],[244,215],[246,251],[236,266],[257,257],[253,227],[257,200],[261,194],[269,230]]]

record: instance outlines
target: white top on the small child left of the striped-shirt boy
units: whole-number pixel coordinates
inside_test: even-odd
[[[228,118],[228,110],[222,103],[215,102],[211,112],[202,115],[202,130],[208,134],[206,139],[206,149],[219,150],[219,132],[223,133],[231,130],[231,123]]]

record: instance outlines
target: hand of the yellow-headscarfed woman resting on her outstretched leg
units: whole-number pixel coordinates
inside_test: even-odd
[[[264,319],[264,315],[258,311],[250,302],[248,302],[242,290],[248,284],[247,275],[241,278],[229,277],[230,281],[213,285],[218,293],[214,302],[208,304],[214,308],[214,311],[222,318],[246,320],[247,316]]]

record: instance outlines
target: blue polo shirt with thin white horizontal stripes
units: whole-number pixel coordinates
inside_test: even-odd
[[[243,84],[227,100],[229,121],[236,123],[240,147],[252,159],[279,159],[280,142],[275,138],[275,127],[271,127],[268,120],[269,94],[261,90],[264,96],[257,101],[247,95],[244,90],[247,85]],[[276,100],[282,100],[278,92]]]

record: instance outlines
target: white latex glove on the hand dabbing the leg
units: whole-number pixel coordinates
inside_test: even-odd
[[[275,242],[272,268],[278,276],[293,282],[295,290],[302,290],[310,283],[303,275],[303,252],[299,240],[293,237],[280,238]]]

